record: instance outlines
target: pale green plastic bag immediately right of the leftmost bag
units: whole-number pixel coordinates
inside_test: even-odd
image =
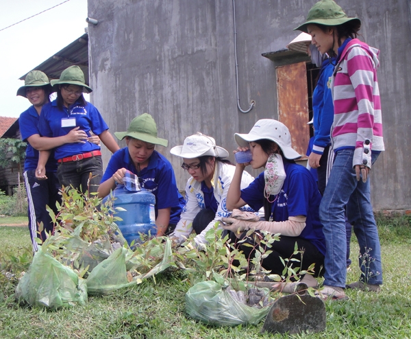
[[[108,294],[136,284],[127,279],[126,253],[127,248],[119,248],[92,270],[86,279],[88,294]]]

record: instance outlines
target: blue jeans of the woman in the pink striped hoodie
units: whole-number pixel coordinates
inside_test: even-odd
[[[348,221],[353,225],[360,246],[360,281],[382,284],[381,248],[371,205],[370,180],[366,183],[362,179],[357,181],[353,154],[354,150],[341,150],[336,154],[320,204],[327,246],[324,285],[340,288],[345,288],[347,278],[345,205]],[[373,156],[373,162],[375,159]]]

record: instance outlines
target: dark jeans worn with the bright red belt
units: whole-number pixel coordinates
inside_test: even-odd
[[[90,173],[92,175],[91,178]],[[60,185],[64,187],[72,185],[77,191],[82,191],[83,193],[86,191],[89,193],[97,192],[101,177],[103,176],[101,156],[92,156],[91,158],[79,161],[60,163],[57,169],[57,176]]]

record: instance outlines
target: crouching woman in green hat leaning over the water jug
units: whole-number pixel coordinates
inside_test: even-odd
[[[140,186],[155,196],[155,224],[157,235],[168,235],[175,229],[184,206],[184,198],[177,189],[171,163],[159,152],[155,145],[167,146],[168,141],[157,137],[157,125],[151,115],[144,113],[134,118],[126,132],[115,132],[120,140],[125,138],[127,147],[114,153],[98,189],[103,198],[123,184],[128,170],[140,181]]]

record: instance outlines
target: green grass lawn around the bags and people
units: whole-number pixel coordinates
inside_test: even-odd
[[[184,273],[170,271],[108,296],[89,296],[84,306],[49,311],[20,307],[16,281],[0,274],[0,338],[411,338],[410,219],[379,218],[384,285],[380,294],[347,290],[349,301],[326,302],[327,329],[320,334],[260,334],[262,324],[212,327],[185,314]],[[28,229],[0,227],[0,270],[27,269]],[[351,239],[351,259],[358,252]],[[14,261],[10,255],[14,255]],[[19,259],[20,258],[20,259]],[[354,261],[354,260],[353,260]],[[356,281],[358,268],[348,274]]]

